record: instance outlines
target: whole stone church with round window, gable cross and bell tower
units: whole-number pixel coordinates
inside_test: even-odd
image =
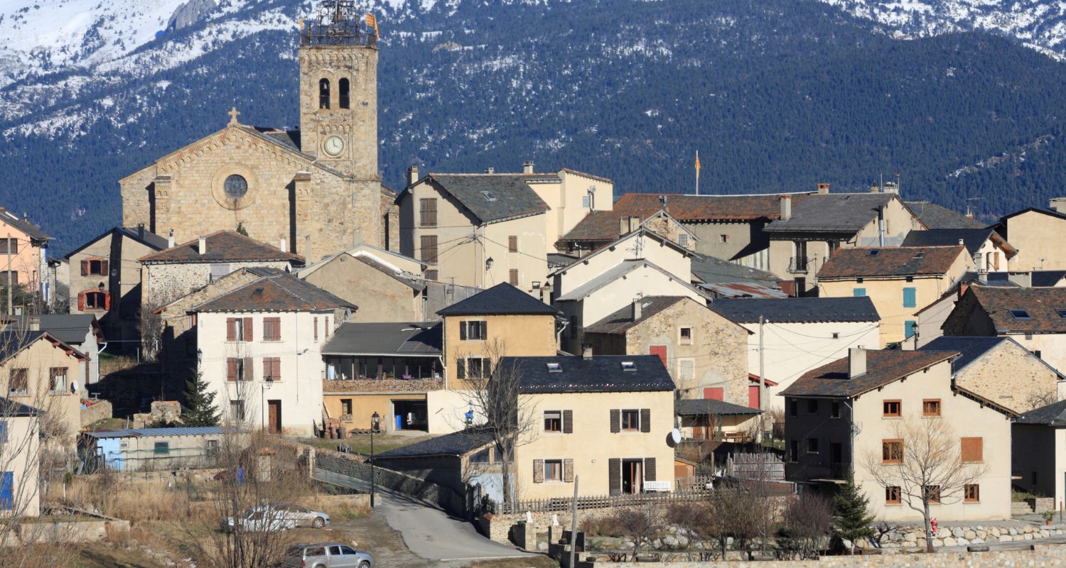
[[[377,35],[353,2],[300,25],[300,130],[225,128],[122,180],[123,225],[177,242],[239,224],[308,263],[365,242],[398,246],[377,169]],[[390,233],[393,237],[390,237]]]

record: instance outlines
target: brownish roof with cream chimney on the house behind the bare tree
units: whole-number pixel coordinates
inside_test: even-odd
[[[867,351],[867,372],[847,378],[847,357],[804,373],[785,396],[857,396],[958,355],[953,351]],[[919,378],[920,379],[920,378]]]

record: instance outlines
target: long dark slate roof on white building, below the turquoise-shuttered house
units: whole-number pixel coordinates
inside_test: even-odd
[[[869,296],[718,298],[710,308],[734,322],[771,323],[878,322],[881,315]]]

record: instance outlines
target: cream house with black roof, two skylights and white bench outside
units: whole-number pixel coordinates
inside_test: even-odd
[[[673,490],[674,382],[659,357],[515,357],[518,403],[533,415],[515,449],[516,496],[552,499]]]

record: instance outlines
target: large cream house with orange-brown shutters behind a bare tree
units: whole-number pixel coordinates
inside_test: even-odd
[[[787,478],[833,490],[854,469],[878,521],[920,522],[921,514],[906,502],[908,493],[921,489],[881,485],[870,468],[891,471],[897,460],[908,459],[904,444],[917,442],[904,428],[944,421],[944,434],[958,440],[946,459],[973,464],[967,467],[980,476],[966,487],[939,488],[933,517],[940,522],[1010,519],[1011,419],[1017,415],[957,386],[951,369],[957,356],[854,348],[796,379],[781,393]]]

